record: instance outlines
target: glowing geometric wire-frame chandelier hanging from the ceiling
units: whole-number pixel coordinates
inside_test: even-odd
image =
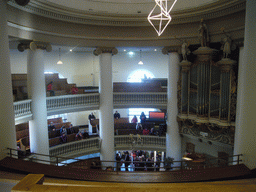
[[[177,0],[174,0],[170,9],[168,9],[167,1],[168,0],[155,0],[156,5],[148,15],[148,21],[156,30],[158,36],[160,36],[164,32],[166,27],[171,22],[172,18],[171,18],[170,12],[173,6],[175,5],[175,3],[177,2]],[[157,23],[154,24],[153,23],[154,21],[159,21],[159,24]]]

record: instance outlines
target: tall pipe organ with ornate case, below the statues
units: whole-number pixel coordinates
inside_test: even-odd
[[[178,81],[178,122],[181,134],[233,144],[236,112],[236,61],[200,47],[194,62],[183,60]],[[208,134],[200,134],[207,132]],[[205,136],[208,135],[208,136]]]

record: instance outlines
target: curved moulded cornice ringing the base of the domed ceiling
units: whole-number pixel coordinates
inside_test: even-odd
[[[229,14],[245,10],[245,0],[222,0],[215,3],[200,6],[197,8],[184,9],[172,12],[172,24],[190,23],[223,17]],[[31,0],[25,7],[19,6],[14,0],[10,0],[8,5],[17,9],[40,15],[43,17],[89,25],[105,26],[149,26],[147,15],[125,15],[125,14],[104,14],[91,13],[89,11],[78,11],[54,7],[51,4],[43,3],[39,0]]]

